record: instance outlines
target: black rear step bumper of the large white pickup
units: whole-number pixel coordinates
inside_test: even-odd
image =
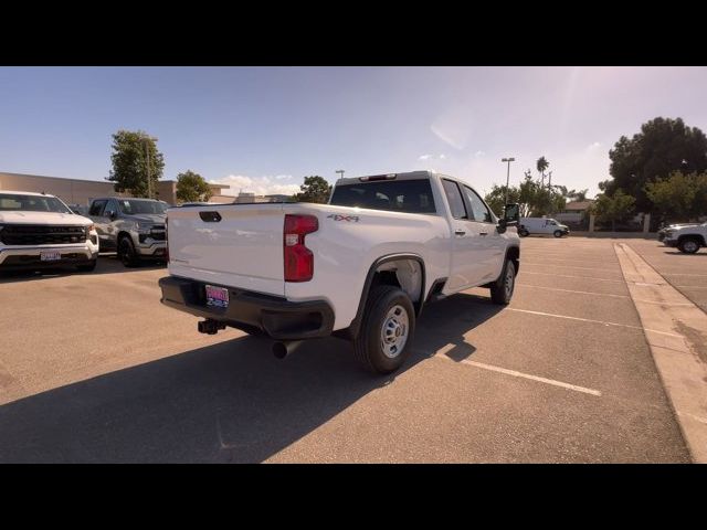
[[[264,332],[275,340],[314,339],[331,335],[334,310],[325,300],[289,301],[223,285],[220,287],[229,289],[229,307],[212,307],[207,306],[205,285],[194,279],[166,276],[159,279],[161,303],[246,332]]]

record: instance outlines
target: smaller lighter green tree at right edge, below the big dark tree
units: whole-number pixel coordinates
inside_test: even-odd
[[[663,220],[689,221],[707,213],[707,173],[674,171],[648,182],[645,192]]]

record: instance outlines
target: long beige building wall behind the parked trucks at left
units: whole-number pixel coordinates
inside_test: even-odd
[[[113,182],[108,181],[3,172],[0,172],[0,190],[45,192],[59,197],[67,204],[84,205],[98,197],[130,197],[129,193],[114,191]],[[177,183],[173,180],[160,180],[157,192],[159,195],[156,199],[170,204],[177,203]]]

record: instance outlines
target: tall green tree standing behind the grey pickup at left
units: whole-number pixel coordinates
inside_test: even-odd
[[[143,130],[118,130],[113,135],[112,148],[113,169],[106,180],[115,182],[115,191],[127,191],[134,197],[148,197],[149,173],[152,195],[156,195],[157,181],[162,177],[165,168],[165,160],[162,153],[157,150],[156,139]]]

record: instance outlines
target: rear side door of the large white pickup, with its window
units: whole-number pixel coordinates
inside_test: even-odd
[[[441,179],[451,211],[452,245],[450,276],[443,293],[451,294],[478,285],[484,276],[479,259],[483,247],[477,223],[472,222],[462,191],[453,180]]]

